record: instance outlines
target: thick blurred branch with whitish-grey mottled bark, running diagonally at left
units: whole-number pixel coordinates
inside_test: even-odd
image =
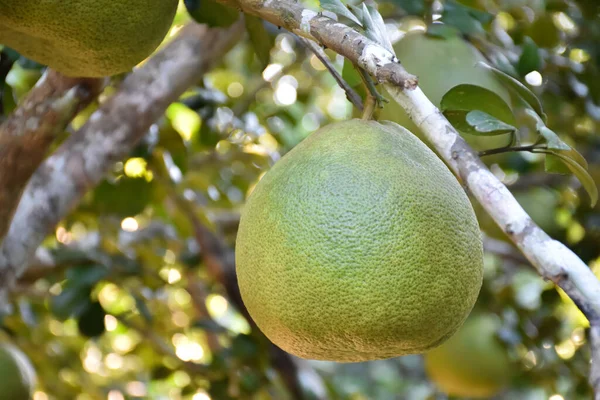
[[[10,289],[46,235],[241,34],[241,24],[228,29],[187,26],[177,39],[129,75],[80,131],[40,166],[0,247],[2,289]]]

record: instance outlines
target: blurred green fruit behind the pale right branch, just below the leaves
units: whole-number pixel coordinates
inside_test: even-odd
[[[560,231],[560,225],[555,219],[556,208],[560,203],[560,195],[557,192],[545,187],[534,187],[526,191],[515,192],[513,195],[533,222],[546,233],[554,236]],[[474,204],[473,208],[479,220],[479,225],[486,235],[494,239],[509,241],[508,236],[479,203]]]

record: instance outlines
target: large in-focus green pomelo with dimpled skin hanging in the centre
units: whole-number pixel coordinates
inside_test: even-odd
[[[401,126],[350,120],[313,133],[256,185],[240,221],[250,315],[302,358],[420,353],[464,322],[482,283],[473,209]]]

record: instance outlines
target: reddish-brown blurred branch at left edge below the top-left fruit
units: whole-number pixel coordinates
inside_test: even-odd
[[[102,83],[49,70],[0,125],[0,242],[48,148],[76,113],[96,98]]]

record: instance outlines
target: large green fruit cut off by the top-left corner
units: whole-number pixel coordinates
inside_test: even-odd
[[[177,0],[0,0],[0,44],[65,75],[114,75],[156,49],[177,5]]]

